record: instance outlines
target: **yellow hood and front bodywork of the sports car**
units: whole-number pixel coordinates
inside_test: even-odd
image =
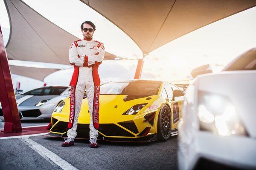
[[[130,121],[141,113],[154,112],[161,107],[162,98],[158,95],[151,95],[144,98],[124,101],[126,95],[100,95],[99,96],[99,123],[109,124],[112,122]],[[70,98],[64,100],[65,105],[61,112],[53,112],[52,117],[64,122],[69,121],[70,117]],[[122,115],[128,109],[137,104],[147,104],[136,115]],[[90,113],[87,98],[84,98],[81,105],[81,111],[78,123],[90,123]]]

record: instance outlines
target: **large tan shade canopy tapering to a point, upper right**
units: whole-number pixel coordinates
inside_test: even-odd
[[[144,54],[256,6],[256,0],[81,0],[122,29]]]

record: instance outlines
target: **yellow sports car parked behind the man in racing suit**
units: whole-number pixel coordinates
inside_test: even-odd
[[[163,81],[114,81],[100,86],[99,140],[166,141],[177,135],[184,91]],[[89,138],[90,113],[86,92],[76,138]],[[52,113],[49,137],[66,137],[70,98]]]

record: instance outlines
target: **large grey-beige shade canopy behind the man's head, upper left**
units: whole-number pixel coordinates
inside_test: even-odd
[[[4,0],[10,20],[8,59],[69,65],[68,49],[79,38],[64,31],[26,3]],[[56,43],[58,40],[58,43]],[[116,56],[105,52],[105,60]]]

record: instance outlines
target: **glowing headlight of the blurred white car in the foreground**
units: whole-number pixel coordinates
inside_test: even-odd
[[[200,129],[223,136],[245,135],[246,131],[228,98],[207,92],[198,94]]]

